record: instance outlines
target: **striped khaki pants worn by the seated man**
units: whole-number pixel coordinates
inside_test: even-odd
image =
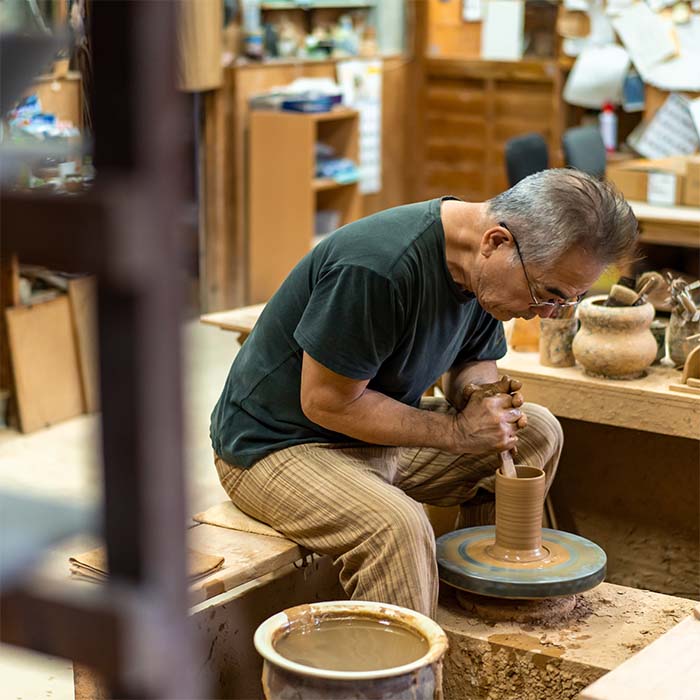
[[[449,412],[444,399],[421,408]],[[561,453],[557,419],[525,404],[516,463],[544,469],[549,490]],[[421,503],[461,505],[459,527],[494,522],[498,455],[432,448],[295,445],[240,469],[216,457],[221,483],[245,513],[341,565],[354,599],[402,605],[435,617],[435,536]]]

